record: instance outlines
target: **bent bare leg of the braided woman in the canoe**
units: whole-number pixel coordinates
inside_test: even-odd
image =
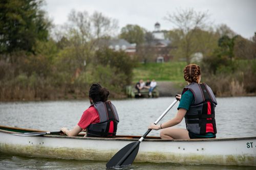
[[[165,128],[160,132],[162,139],[190,139],[188,131],[181,128]]]

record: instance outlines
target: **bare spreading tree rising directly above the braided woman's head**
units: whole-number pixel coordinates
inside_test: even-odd
[[[208,12],[196,12],[194,9],[180,9],[165,17],[180,30],[181,37],[178,44],[175,44],[177,46],[175,54],[185,58],[187,63],[190,63],[193,54],[198,52],[198,43],[195,43],[197,30],[207,28],[208,18]]]

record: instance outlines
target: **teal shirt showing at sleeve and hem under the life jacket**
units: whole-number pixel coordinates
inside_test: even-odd
[[[194,97],[193,93],[190,90],[187,90],[182,94],[182,98],[180,99],[180,104],[178,106],[178,110],[180,108],[189,110],[190,106],[194,103],[195,103],[195,97]],[[189,133],[191,133],[191,132],[189,132]],[[213,134],[211,132],[208,132],[205,135],[196,135],[196,134],[193,134],[193,135],[197,136],[199,138],[202,138],[202,137],[209,138],[209,137],[215,136],[215,134]]]

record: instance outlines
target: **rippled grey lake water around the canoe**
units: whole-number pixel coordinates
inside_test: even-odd
[[[143,135],[174,98],[116,100],[120,123],[119,135]],[[216,108],[217,137],[256,136],[256,97],[218,98]],[[0,125],[57,131],[73,128],[84,110],[90,106],[84,101],[10,102],[0,103]],[[174,117],[176,104],[160,123]],[[185,122],[176,127],[185,128]],[[152,131],[151,136],[159,136]],[[39,159],[14,155],[0,156],[0,169],[105,169],[106,162]],[[253,169],[252,167],[134,163],[127,169]]]

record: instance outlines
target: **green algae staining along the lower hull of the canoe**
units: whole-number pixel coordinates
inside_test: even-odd
[[[108,161],[118,150],[93,150],[82,148],[51,148],[38,145],[19,145],[0,143],[0,152],[25,155],[38,158],[60,158],[76,160]],[[246,154],[233,155],[200,155],[174,154],[172,152],[139,152],[135,162],[178,163],[178,164],[218,164],[256,166],[255,157]]]

